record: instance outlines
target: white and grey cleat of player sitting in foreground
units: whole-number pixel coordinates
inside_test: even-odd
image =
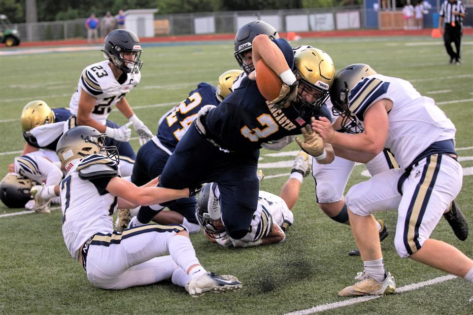
[[[203,296],[207,292],[228,292],[241,289],[241,284],[234,276],[218,276],[207,273],[198,278],[190,280],[186,284],[186,291],[192,297]]]

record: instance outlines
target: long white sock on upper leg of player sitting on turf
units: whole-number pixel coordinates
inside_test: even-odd
[[[189,238],[182,235],[171,237],[168,243],[168,249],[172,260],[185,272],[187,272],[192,265],[199,265],[190,270],[189,276],[191,278],[197,278],[207,273],[201,266],[199,259],[197,259],[196,251]]]

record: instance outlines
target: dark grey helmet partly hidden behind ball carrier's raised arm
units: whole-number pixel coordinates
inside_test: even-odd
[[[247,74],[255,70],[251,55],[249,54],[251,54],[253,39],[260,34],[266,34],[271,39],[279,38],[276,29],[268,23],[259,20],[246,23],[238,29],[235,35],[235,58],[238,65]]]

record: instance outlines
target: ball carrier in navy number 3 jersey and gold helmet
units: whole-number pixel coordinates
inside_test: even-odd
[[[169,157],[160,181],[169,188],[217,182],[222,221],[236,240],[248,233],[257,208],[256,173],[263,142],[304,133],[305,141],[298,143],[305,151],[321,163],[334,157],[331,146],[308,127],[312,117],[331,118],[323,105],[335,76],[330,56],[315,48],[294,55],[286,40],[268,35],[256,36],[252,47],[253,63],[263,59],[281,77],[279,96],[268,103],[252,72],[220,105],[203,106]]]

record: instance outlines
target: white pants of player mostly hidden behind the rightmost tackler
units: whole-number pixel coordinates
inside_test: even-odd
[[[318,164],[312,159],[312,176],[315,179],[317,203],[330,204],[343,197],[348,178],[355,167],[355,162],[336,156],[330,164]],[[366,164],[371,175],[392,168],[399,168],[391,153],[385,149]]]

